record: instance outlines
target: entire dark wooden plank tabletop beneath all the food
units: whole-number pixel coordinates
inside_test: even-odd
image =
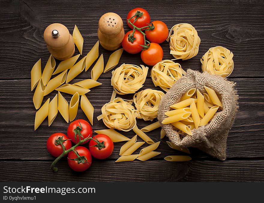
[[[0,4],[0,181],[264,181],[264,4],[262,1],[1,1]],[[218,161],[190,148],[192,160],[167,162],[167,155],[183,155],[160,139],[159,130],[148,133],[160,155],[149,161],[115,163],[124,144],[115,143],[106,160],[93,160],[89,170],[75,173],[66,158],[58,162],[57,173],[50,170],[54,158],[46,150],[46,140],[54,132],[67,133],[68,124],[58,113],[48,127],[47,119],[34,131],[35,108],[30,91],[30,71],[39,58],[42,70],[49,57],[43,39],[46,26],[62,23],[72,33],[76,24],[84,38],[85,56],[97,42],[98,20],[107,12],[118,13],[125,22],[129,10],[143,7],[152,20],[162,20],[170,29],[192,24],[201,44],[196,57],[179,63],[201,71],[200,58],[214,46],[224,46],[234,54],[235,68],[228,80],[237,83],[239,112],[227,139],[227,159]],[[125,31],[129,28],[124,24]],[[168,42],[161,44],[164,59],[172,59]],[[106,64],[111,51],[99,48]],[[76,49],[76,53],[78,50]],[[140,54],[123,53],[119,65],[143,62]],[[58,64],[58,61],[57,61]],[[151,68],[151,67],[150,67]],[[73,82],[90,78],[91,68]],[[111,71],[98,79],[103,85],[87,94],[95,108],[93,129],[105,129],[96,117],[110,100]],[[145,88],[155,88],[149,75]],[[141,89],[141,90],[142,90]],[[159,88],[157,88],[159,89]],[[53,98],[56,92],[44,97]],[[66,94],[64,94],[66,95]],[[70,95],[66,96],[70,101]],[[132,98],[126,95],[123,98]],[[86,118],[79,108],[76,119]],[[138,120],[143,127],[150,122]],[[133,132],[124,133],[131,138]]]

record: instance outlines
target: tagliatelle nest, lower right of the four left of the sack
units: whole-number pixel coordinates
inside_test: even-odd
[[[145,89],[134,94],[134,103],[139,111],[138,118],[153,120],[158,116],[158,107],[161,98],[164,96],[162,91],[155,89]]]

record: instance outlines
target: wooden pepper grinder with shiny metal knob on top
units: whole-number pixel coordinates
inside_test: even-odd
[[[53,23],[45,29],[44,41],[49,52],[58,60],[66,60],[75,52],[73,37],[69,30],[60,23]]]

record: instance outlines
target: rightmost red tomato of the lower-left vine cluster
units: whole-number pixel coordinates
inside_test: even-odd
[[[96,141],[90,141],[89,149],[94,158],[105,159],[113,153],[114,143],[110,137],[104,134],[98,134],[93,139]]]

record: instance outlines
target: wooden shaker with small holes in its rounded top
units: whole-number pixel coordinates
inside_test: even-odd
[[[116,50],[121,46],[125,31],[122,18],[116,13],[105,13],[98,22],[98,39],[106,50]]]

